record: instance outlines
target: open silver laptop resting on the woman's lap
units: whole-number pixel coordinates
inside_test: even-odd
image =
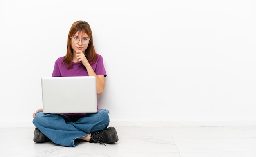
[[[96,77],[42,77],[43,113],[96,113]]]

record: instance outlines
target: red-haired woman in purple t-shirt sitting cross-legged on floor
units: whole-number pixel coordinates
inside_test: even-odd
[[[92,31],[85,21],[72,24],[67,39],[67,54],[56,60],[52,77],[95,76],[97,94],[104,91],[106,71],[101,55],[95,52]],[[33,113],[36,126],[34,142],[52,142],[76,147],[82,141],[114,143],[118,141],[114,127],[109,124],[108,110],[97,113],[44,114],[43,109]]]

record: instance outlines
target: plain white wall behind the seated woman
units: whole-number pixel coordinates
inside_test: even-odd
[[[256,125],[255,8],[254,0],[1,0],[0,127],[34,126],[40,78],[65,55],[77,20],[90,24],[103,56],[98,102],[112,122]]]

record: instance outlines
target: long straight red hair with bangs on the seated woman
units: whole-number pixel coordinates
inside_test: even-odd
[[[63,64],[63,63],[67,64],[67,69],[72,69],[72,67],[73,67],[73,64],[72,64],[73,49],[71,47],[71,38],[70,37],[74,36],[77,31],[79,33],[86,33],[90,38],[88,47],[85,50],[85,57],[87,58],[88,62],[91,65],[93,65],[93,64],[95,64],[95,62],[98,59],[96,51],[93,46],[92,30],[91,30],[90,25],[85,21],[76,21],[72,24],[70,31],[68,33],[67,54],[64,56],[63,62],[61,63],[61,64]]]

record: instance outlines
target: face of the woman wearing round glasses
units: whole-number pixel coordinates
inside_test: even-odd
[[[82,51],[85,53],[85,50],[88,47],[90,38],[86,33],[82,32],[76,32],[72,37],[71,37],[71,47],[73,49],[73,53],[76,53],[76,51]]]

